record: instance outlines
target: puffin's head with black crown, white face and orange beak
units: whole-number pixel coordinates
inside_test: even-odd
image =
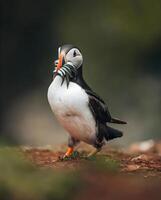
[[[82,63],[83,56],[77,47],[66,44],[58,48],[58,60],[55,61],[56,71],[59,71],[64,64],[71,64],[78,69]]]

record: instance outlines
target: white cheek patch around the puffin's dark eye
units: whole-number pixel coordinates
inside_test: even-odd
[[[65,62],[72,63],[75,67],[79,68],[83,63],[83,56],[77,48],[73,48],[64,57]]]

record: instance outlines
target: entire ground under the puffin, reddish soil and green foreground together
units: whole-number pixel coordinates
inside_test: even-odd
[[[83,144],[62,160],[65,149],[0,146],[0,199],[161,199],[161,142],[106,145],[90,158]]]

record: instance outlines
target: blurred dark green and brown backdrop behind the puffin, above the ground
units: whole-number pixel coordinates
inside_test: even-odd
[[[52,62],[77,45],[84,76],[112,115],[128,122],[129,143],[161,137],[161,1],[1,0],[0,136],[60,144],[67,134],[47,102]]]

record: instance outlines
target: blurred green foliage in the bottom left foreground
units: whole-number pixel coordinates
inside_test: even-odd
[[[79,174],[38,169],[16,148],[0,148],[0,199],[69,199],[80,188]]]

